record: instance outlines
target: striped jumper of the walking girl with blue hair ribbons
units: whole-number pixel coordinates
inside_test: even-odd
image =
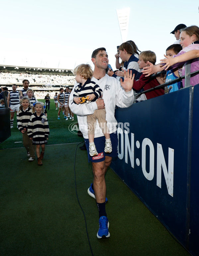
[[[30,138],[48,138],[49,135],[49,126],[47,117],[41,113],[40,116],[37,116],[36,113],[33,113],[30,121],[28,123],[28,136]]]

